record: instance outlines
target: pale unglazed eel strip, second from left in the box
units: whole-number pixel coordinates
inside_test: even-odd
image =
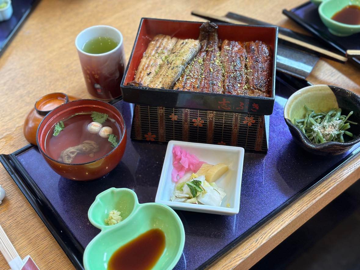
[[[184,72],[186,65],[200,49],[200,42],[194,39],[177,40],[171,53],[161,64],[159,71],[152,78],[149,87],[172,89]]]

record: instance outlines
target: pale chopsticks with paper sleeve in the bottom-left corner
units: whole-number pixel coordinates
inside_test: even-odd
[[[12,270],[40,270],[29,255],[26,256],[24,260],[21,259],[1,225],[0,252],[3,254]]]

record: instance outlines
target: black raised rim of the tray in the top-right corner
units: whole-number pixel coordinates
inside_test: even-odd
[[[302,18],[300,18],[297,14],[295,14],[294,10],[298,10],[300,8],[303,8],[306,5],[309,5],[311,2],[308,1],[306,3],[301,4],[300,6],[297,6],[291,10],[283,9],[283,14],[288,17],[289,19],[292,19],[294,22],[299,24],[302,28],[309,31],[316,37],[318,37],[321,41],[325,42],[327,45],[332,46],[333,48],[337,49],[340,53],[342,53],[344,56],[346,55],[346,49],[340,44],[338,44],[336,41],[332,40],[330,37],[324,36],[321,32],[316,30],[310,23],[307,23]],[[349,57],[349,61],[354,64],[356,67],[360,67],[360,59],[357,59],[356,57]]]

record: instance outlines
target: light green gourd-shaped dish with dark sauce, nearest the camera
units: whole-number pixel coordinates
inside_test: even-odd
[[[120,212],[114,225],[106,220]],[[101,232],[84,252],[85,270],[173,269],[184,249],[179,216],[161,203],[139,203],[134,191],[110,188],[96,196],[88,217]]]

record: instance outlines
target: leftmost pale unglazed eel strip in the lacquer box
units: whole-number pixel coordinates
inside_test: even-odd
[[[171,36],[161,34],[154,36],[141,58],[134,81],[129,82],[129,85],[147,86],[156,75],[163,60],[174,48],[176,41],[176,37],[171,38]]]

